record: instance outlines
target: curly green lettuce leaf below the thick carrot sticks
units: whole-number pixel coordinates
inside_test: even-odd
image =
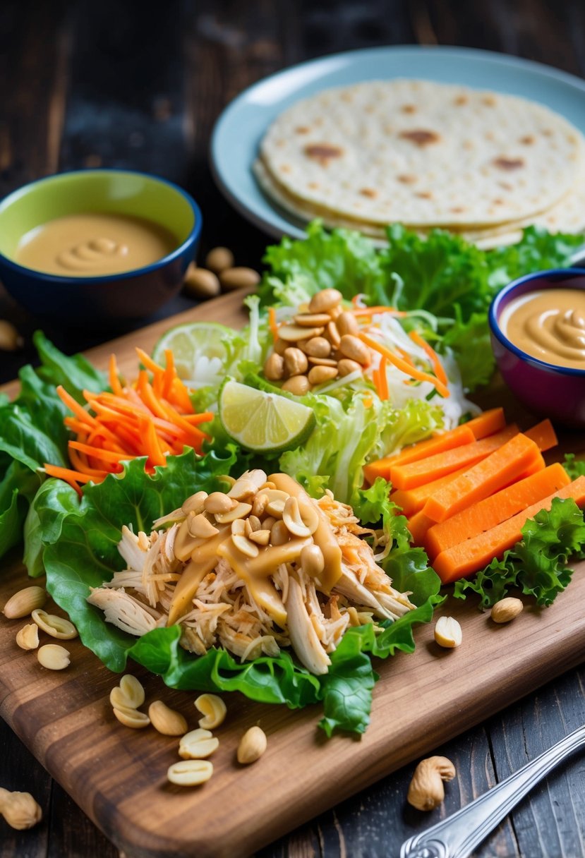
[[[467,592],[480,597],[480,607],[492,607],[510,589],[551,605],[570,584],[570,558],[585,557],[585,521],[572,498],[554,498],[550,510],[540,510],[522,528],[522,540],[470,580],[455,583],[455,598]]]

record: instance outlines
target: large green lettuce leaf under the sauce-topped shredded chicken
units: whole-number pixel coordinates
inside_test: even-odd
[[[233,445],[223,456],[213,451],[199,459],[192,451],[171,456],[166,468],[156,468],[154,476],[144,472],[143,459],[136,459],[124,466],[123,475],[112,474],[100,485],[88,485],[81,498],[58,480],[47,480],[29,517],[33,563],[39,564],[42,558],[47,589],[69,613],[83,644],[108,668],[122,671],[130,657],[176,688],[239,691],[292,708],[322,700],[326,732],[335,728],[363,732],[376,680],[370,656],[385,658],[395,650],[411,651],[413,625],[431,619],[438,589],[437,576],[421,563],[424,555],[419,549],[409,550],[405,520],[395,516],[389,486],[383,480],[361,492],[360,503],[372,521],[382,521],[389,534],[391,530],[393,549],[386,563],[394,570],[396,585],[412,589],[419,607],[395,623],[384,623],[377,636],[373,626],[371,631],[348,631],[324,677],[310,674],[284,651],[276,658],[262,656],[244,664],[218,649],[193,656],[179,646],[178,628],[154,629],[136,639],[107,624],[103,613],[87,603],[91,587],[124,567],[118,553],[124,523],[135,532],[149,531],[156,517],[175,509],[187,495],[218,489],[222,475],[231,470],[238,473],[238,450]]]

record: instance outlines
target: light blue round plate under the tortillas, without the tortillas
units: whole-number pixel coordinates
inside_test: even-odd
[[[241,215],[269,235],[304,238],[304,222],[274,205],[251,170],[268,125],[295,101],[323,89],[393,77],[521,95],[563,114],[585,134],[585,81],[549,66],[468,48],[413,45],[347,51],[267,77],[226,107],[211,140],[220,190]]]

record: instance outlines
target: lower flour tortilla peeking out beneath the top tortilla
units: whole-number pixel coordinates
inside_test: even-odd
[[[320,218],[326,227],[345,227],[357,229],[369,238],[374,239],[377,245],[386,243],[386,231],[382,225],[353,221],[338,215],[331,215],[327,210],[312,208],[292,200],[274,180],[269,176],[261,160],[254,164],[254,173],[258,184],[287,215],[293,215],[299,219],[299,226],[303,221],[311,221]],[[540,215],[526,218],[522,221],[510,221],[504,224],[494,225],[492,228],[478,229],[453,229],[451,231],[460,235],[461,238],[473,242],[482,250],[491,250],[493,247],[516,244],[522,239],[522,229],[531,224],[545,227],[550,233],[585,233],[585,177],[580,178],[575,187],[569,191],[559,202]],[[432,227],[428,229],[418,228],[417,233],[421,236],[428,235]]]

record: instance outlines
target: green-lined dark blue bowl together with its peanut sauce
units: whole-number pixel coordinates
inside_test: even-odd
[[[202,215],[148,173],[57,173],[0,203],[0,280],[19,304],[64,324],[124,326],[178,293]]]

